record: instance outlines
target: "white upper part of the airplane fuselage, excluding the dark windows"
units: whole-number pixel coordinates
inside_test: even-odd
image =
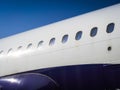
[[[114,30],[107,33],[110,23]],[[97,34],[90,36],[97,27]],[[82,31],[80,40],[75,36]],[[66,43],[62,37],[68,35]],[[54,45],[49,45],[55,38]],[[39,42],[43,41],[42,46]],[[0,76],[68,65],[120,63],[120,4],[0,40]]]

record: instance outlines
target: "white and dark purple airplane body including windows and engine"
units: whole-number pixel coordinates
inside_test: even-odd
[[[0,39],[0,90],[120,90],[120,4]]]

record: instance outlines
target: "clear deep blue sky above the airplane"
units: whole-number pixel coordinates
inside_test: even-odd
[[[0,38],[117,3],[120,0],[0,0]]]

